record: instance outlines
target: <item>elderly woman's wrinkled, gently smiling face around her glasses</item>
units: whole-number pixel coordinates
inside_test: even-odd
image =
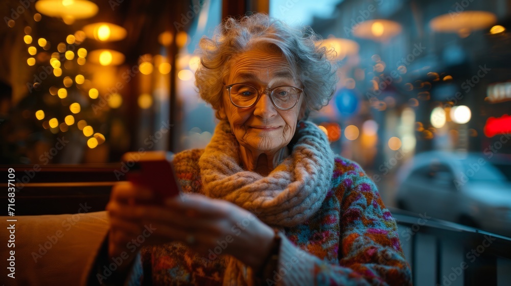
[[[225,85],[247,83],[258,89],[271,89],[279,85],[302,87],[296,73],[280,53],[252,50],[237,55],[230,61]],[[303,114],[303,94],[289,110],[276,108],[269,94],[263,92],[250,108],[238,108],[224,90],[223,108],[231,129],[242,146],[257,153],[271,154],[289,144],[298,118]]]

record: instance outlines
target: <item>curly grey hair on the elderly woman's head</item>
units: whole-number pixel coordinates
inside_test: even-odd
[[[317,44],[319,40],[321,37],[310,27],[294,29],[266,14],[252,14],[239,20],[229,17],[216,28],[211,39],[203,37],[195,51],[201,59],[195,73],[199,95],[212,105],[220,119],[218,111],[222,107],[223,78],[229,73],[229,59],[255,48],[273,46],[282,52],[304,85],[308,117],[311,110],[328,104],[338,80],[330,60],[334,52]]]

